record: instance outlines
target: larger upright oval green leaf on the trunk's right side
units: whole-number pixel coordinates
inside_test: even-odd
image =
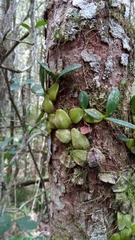
[[[112,91],[109,94],[109,97],[107,99],[107,104],[106,104],[106,116],[109,117],[112,115],[119,103],[120,100],[120,92],[118,88],[112,89]]]

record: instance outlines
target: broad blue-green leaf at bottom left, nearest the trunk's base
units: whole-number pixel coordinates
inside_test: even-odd
[[[37,228],[37,222],[30,221],[29,216],[19,218],[15,222],[21,231],[27,231]]]

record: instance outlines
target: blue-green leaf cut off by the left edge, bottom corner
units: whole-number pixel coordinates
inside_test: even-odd
[[[11,217],[4,214],[0,217],[0,236],[2,236],[6,231],[12,227]]]

